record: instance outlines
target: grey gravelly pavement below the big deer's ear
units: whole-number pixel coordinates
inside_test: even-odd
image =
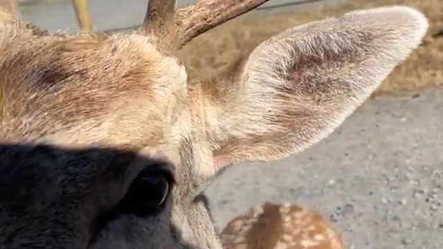
[[[349,249],[443,248],[443,90],[377,99],[291,158],[228,169],[207,190],[219,229],[264,201],[319,210]]]

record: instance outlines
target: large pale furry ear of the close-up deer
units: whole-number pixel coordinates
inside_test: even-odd
[[[235,77],[206,91],[217,167],[284,158],[325,138],[419,46],[427,27],[422,13],[394,6],[263,42]]]

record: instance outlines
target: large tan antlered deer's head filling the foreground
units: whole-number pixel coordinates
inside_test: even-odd
[[[329,136],[428,29],[408,6],[354,10],[199,77],[181,48],[266,0],[151,0],[140,29],[102,36],[51,32],[4,2],[0,245],[10,249],[223,248],[210,183]]]

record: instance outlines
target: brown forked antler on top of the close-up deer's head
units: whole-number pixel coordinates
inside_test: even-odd
[[[193,38],[269,0],[200,0],[175,10],[175,0],[150,0],[142,31],[170,48],[181,49]]]

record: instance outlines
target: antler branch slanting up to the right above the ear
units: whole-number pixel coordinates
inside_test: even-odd
[[[257,8],[269,0],[201,0],[181,8],[175,15],[177,49],[192,39],[239,15]]]

